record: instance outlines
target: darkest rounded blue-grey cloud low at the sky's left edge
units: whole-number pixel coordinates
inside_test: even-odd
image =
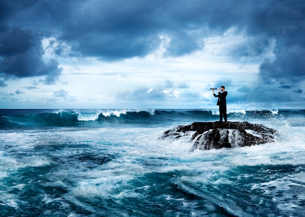
[[[30,30],[14,28],[0,35],[0,75],[10,78],[46,76],[46,84],[54,84],[62,68],[57,60],[45,62],[41,37]]]

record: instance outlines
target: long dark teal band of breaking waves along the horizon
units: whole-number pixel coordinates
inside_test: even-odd
[[[230,119],[259,119],[274,117],[305,117],[305,110],[262,109],[228,110]],[[166,123],[179,121],[214,121],[218,109],[100,109],[100,110],[0,110],[0,127],[83,126],[100,123]]]

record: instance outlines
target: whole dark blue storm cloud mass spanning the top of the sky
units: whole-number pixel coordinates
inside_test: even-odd
[[[56,55],[113,61],[152,53],[160,36],[171,39],[166,56],[190,54],[234,27],[247,40],[232,58],[262,56],[275,41],[274,59],[259,68],[264,82],[305,79],[304,0],[0,0],[0,12],[4,76],[58,79],[58,62],[42,59],[42,37],[53,38]]]

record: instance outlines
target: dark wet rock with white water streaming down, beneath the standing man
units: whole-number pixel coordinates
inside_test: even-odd
[[[166,131],[160,139],[188,137],[191,150],[220,149],[259,145],[274,142],[277,132],[262,124],[249,122],[194,122]]]

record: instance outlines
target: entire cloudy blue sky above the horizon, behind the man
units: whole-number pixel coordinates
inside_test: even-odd
[[[0,109],[305,108],[304,0],[0,0]]]

